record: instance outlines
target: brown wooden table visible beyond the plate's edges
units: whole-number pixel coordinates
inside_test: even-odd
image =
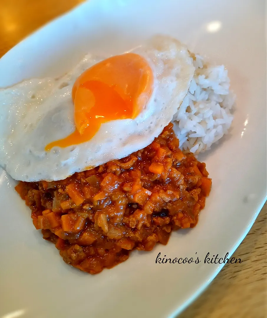
[[[22,38],[83,0],[0,0],[0,57]],[[234,257],[179,318],[266,317],[266,203]]]

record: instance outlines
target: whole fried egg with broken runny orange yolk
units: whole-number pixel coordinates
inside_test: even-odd
[[[112,57],[86,55],[60,78],[0,90],[0,165],[16,180],[61,180],[149,145],[194,74],[186,46],[155,36]]]

